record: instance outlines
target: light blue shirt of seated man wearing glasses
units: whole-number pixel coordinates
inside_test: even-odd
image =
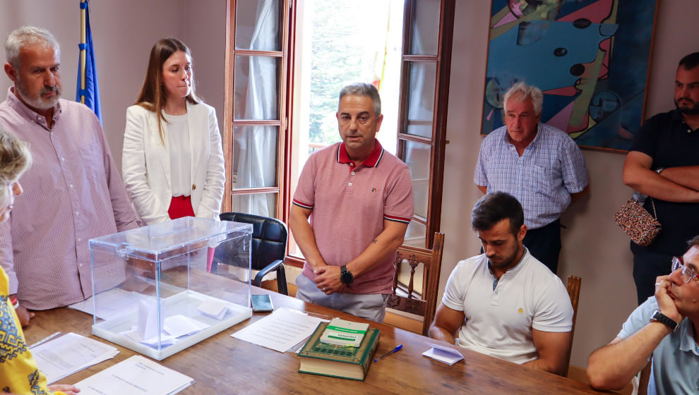
[[[658,303],[655,296],[651,296],[633,310],[617,336],[626,339],[645,327],[655,310],[658,310]],[[699,393],[699,349],[690,320],[685,318],[675,332],[665,336],[652,358],[648,395]]]

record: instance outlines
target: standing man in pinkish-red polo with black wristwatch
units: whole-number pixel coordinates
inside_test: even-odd
[[[343,87],[336,116],[342,142],[309,157],[289,217],[306,257],[297,298],[383,322],[412,219],[410,170],[376,140],[383,115],[374,85]]]

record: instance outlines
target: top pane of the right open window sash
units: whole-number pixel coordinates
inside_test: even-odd
[[[412,1],[411,55],[436,55],[439,41],[441,0]]]

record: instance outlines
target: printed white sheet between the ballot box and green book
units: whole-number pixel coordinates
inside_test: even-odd
[[[297,310],[279,308],[231,336],[285,353],[289,348],[311,336],[320,322],[328,322],[328,320],[311,317]]]

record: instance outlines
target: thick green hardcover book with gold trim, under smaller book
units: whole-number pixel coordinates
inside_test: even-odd
[[[328,327],[328,322],[321,322],[301,351],[300,373],[311,373],[364,381],[369,370],[381,332],[369,328],[359,347],[338,346],[321,342],[321,336]]]

